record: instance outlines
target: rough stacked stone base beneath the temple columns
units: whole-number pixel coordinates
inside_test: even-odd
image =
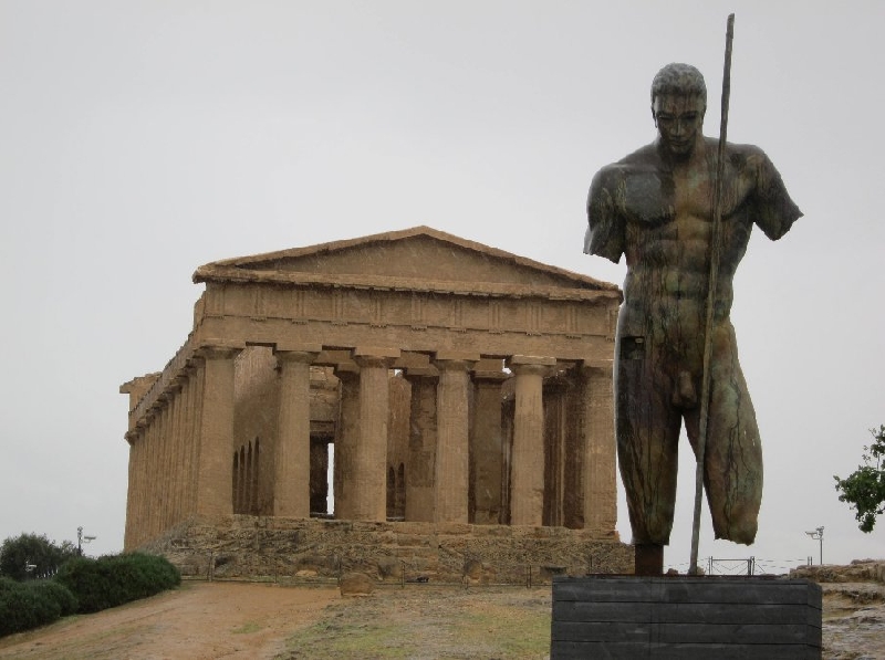
[[[632,573],[633,547],[564,527],[373,523],[232,515],[195,518],[138,548],[184,576],[524,584],[553,575]]]

